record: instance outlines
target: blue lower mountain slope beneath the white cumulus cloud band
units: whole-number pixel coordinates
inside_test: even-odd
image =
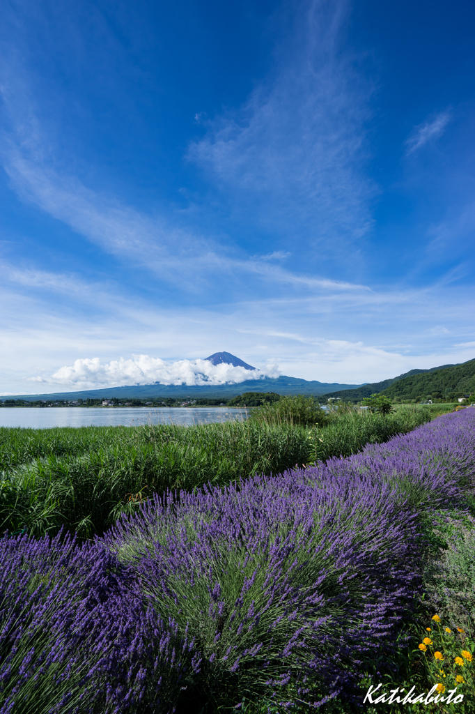
[[[27,401],[36,399],[91,399],[106,398],[111,399],[146,399],[148,397],[210,397],[210,398],[231,398],[243,392],[277,392],[278,394],[313,394],[318,396],[329,389],[336,392],[339,389],[351,389],[357,384],[339,384],[337,382],[327,383],[318,381],[307,381],[296,377],[280,376],[277,378],[264,377],[262,379],[247,379],[238,384],[223,384],[219,386],[186,386],[167,384],[148,384],[126,387],[108,387],[106,389],[88,389],[78,392],[57,392],[54,394],[20,394],[7,396],[0,399],[21,398]]]

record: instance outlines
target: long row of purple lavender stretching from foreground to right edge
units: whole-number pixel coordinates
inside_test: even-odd
[[[346,459],[168,493],[81,547],[1,540],[0,714],[351,695],[402,642],[419,516],[463,505],[474,427],[467,409]]]

